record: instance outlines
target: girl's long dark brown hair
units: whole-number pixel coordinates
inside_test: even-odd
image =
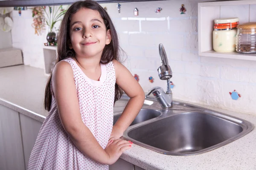
[[[68,42],[70,42],[70,35],[69,35],[69,29],[70,29],[70,20],[73,14],[75,14],[79,9],[81,8],[88,8],[95,11],[98,11],[101,15],[104,24],[106,26],[106,31],[110,29],[111,31],[111,42],[108,45],[105,45],[105,48],[103,49],[102,56],[100,62],[102,64],[107,64],[113,59],[116,59],[119,61],[119,51],[122,51],[122,49],[119,47],[118,42],[118,36],[116,33],[116,29],[111,21],[111,18],[109,17],[108,13],[105,11],[102,6],[100,6],[98,3],[94,2],[93,0],[84,0],[84,1],[77,1],[73,3],[68,9],[66,14],[63,17],[63,20],[61,21],[60,30],[58,32],[58,46],[57,46],[57,59],[56,63],[60,62],[63,59],[67,59],[68,57],[75,57],[75,51],[73,49],[70,49],[68,46]],[[52,73],[50,74],[50,77],[48,79],[46,88],[45,88],[45,94],[44,94],[44,108],[49,111],[51,108],[52,103],[52,91],[51,91],[51,80],[52,80]],[[119,87],[119,85],[115,85],[115,99],[114,102],[116,102],[120,97],[122,96],[122,89]]]

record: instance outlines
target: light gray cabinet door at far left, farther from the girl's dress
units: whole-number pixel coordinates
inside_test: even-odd
[[[0,105],[0,170],[25,170],[19,113]]]

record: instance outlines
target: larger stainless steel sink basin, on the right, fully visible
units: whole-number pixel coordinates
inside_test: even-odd
[[[253,129],[219,113],[186,112],[131,127],[124,138],[167,155],[194,155],[233,142]]]

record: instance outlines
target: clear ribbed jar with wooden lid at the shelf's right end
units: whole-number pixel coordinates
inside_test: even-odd
[[[256,53],[256,23],[237,26],[236,51],[242,54]]]

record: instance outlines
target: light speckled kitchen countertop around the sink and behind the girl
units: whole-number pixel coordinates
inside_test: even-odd
[[[24,65],[0,68],[0,104],[43,122],[47,116],[43,108],[46,82],[43,69]],[[198,106],[245,119],[256,127],[256,115]],[[121,158],[145,170],[256,170],[256,130],[199,155],[167,156],[134,144]]]

